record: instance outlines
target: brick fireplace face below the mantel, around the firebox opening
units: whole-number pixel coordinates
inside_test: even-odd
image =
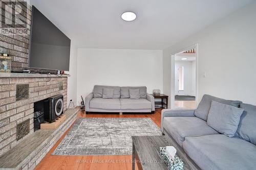
[[[59,89],[62,82],[63,89]],[[16,100],[16,85],[29,84],[29,98]],[[16,126],[30,119],[30,132],[34,133],[34,102],[62,94],[64,110],[67,109],[67,77],[0,78],[0,156],[22,139],[16,140]]]

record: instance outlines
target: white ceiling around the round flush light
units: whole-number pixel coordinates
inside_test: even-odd
[[[30,0],[77,47],[163,50],[253,0]],[[134,21],[121,19],[125,11]]]

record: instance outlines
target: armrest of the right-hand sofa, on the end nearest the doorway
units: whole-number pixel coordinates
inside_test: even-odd
[[[161,113],[161,130],[163,132],[164,117],[194,117],[195,109],[163,109]],[[164,132],[163,132],[164,133]]]

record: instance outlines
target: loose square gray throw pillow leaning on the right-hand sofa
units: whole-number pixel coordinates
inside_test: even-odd
[[[233,137],[238,129],[243,111],[244,109],[241,108],[212,101],[207,118],[207,125],[219,133]]]

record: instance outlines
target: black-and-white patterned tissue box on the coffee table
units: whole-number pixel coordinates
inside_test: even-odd
[[[182,162],[182,160],[176,155],[174,160],[170,159],[170,157],[166,153],[166,147],[160,147],[160,155],[163,158],[163,162],[168,166],[169,170],[183,169],[184,163]]]

